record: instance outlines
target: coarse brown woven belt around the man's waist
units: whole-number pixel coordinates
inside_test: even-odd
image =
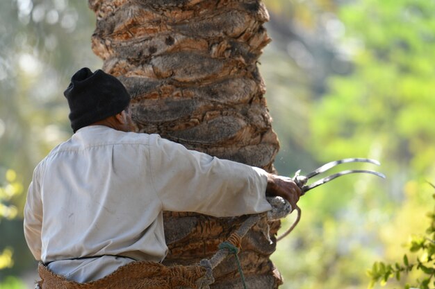
[[[197,289],[196,281],[206,270],[199,265],[165,266],[150,261],[135,261],[121,266],[102,279],[88,283],[69,281],[54,274],[44,264],[38,265],[41,289],[172,289],[184,286]]]

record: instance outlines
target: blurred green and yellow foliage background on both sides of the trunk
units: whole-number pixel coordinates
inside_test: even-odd
[[[388,177],[342,177],[302,198],[301,222],[272,256],[284,275],[281,288],[366,288],[368,268],[402,260],[404,237],[425,230],[421,213],[432,206],[425,179],[435,175],[435,2],[265,4],[273,42],[260,69],[281,141],[279,173],[372,157]],[[38,161],[72,134],[62,95],[69,77],[101,67],[90,49],[95,15],[86,1],[8,0],[0,2],[0,21],[0,182],[26,188]],[[6,168],[17,172],[15,180],[7,180]],[[11,276],[35,276],[22,234],[26,194],[6,200],[2,192],[3,211],[18,220],[0,220],[0,263],[14,261],[0,271],[0,288],[24,288]],[[385,287],[418,278],[412,270]]]

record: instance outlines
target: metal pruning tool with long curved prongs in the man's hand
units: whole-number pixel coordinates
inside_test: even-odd
[[[315,170],[313,170],[311,173],[307,175],[300,175],[301,170],[297,170],[295,176],[293,177],[293,182],[295,182],[297,186],[299,186],[299,188],[301,189],[302,191],[301,195],[305,195],[307,191],[310,191],[311,189],[314,189],[315,187],[320,186],[322,184],[326,184],[327,182],[330,182],[331,180],[336,179],[337,177],[341,177],[342,175],[349,175],[352,173],[368,173],[371,175],[377,175],[378,177],[385,179],[385,175],[383,173],[378,173],[375,170],[342,170],[339,173],[334,173],[333,175],[329,175],[328,177],[324,177],[316,182],[308,184],[309,179],[311,179],[312,177],[315,177],[316,175],[319,175],[321,173],[325,173],[327,170],[330,170],[331,168],[334,168],[339,164],[345,164],[345,163],[368,163],[368,164],[375,164],[377,166],[380,166],[379,161],[375,159],[366,159],[361,157],[339,159],[338,161],[330,161],[329,163],[324,164],[319,168],[316,168]],[[291,225],[291,227],[284,234],[277,237],[277,240],[281,240],[282,238],[290,234],[290,231],[292,231],[296,227],[297,223],[299,222],[301,217],[301,209],[297,206],[294,209],[297,211],[297,218],[295,222],[293,222],[293,225]]]

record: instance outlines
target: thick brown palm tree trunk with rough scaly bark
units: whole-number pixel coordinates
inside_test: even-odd
[[[279,149],[257,62],[270,42],[268,12],[250,0],[89,0],[97,15],[92,49],[103,69],[129,90],[138,131],[189,149],[273,171]],[[210,257],[243,218],[165,212],[166,264]],[[279,224],[272,224],[270,234]],[[272,238],[273,239],[273,238]],[[277,288],[263,229],[243,239],[240,259],[249,288]],[[242,288],[233,257],[212,288]]]

